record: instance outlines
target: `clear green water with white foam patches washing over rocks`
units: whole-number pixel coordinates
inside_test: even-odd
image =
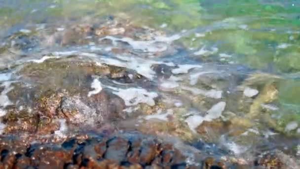
[[[70,31],[90,26],[99,35]],[[151,133],[236,156],[279,149],[297,159],[299,28],[299,0],[0,0],[0,114],[32,104],[9,94],[15,84],[70,89],[77,78],[125,100],[130,120],[120,127],[145,131],[145,122]],[[44,65],[74,61],[125,67],[146,81],[92,84],[82,71]]]

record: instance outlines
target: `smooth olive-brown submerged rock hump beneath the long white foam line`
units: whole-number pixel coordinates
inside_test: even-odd
[[[109,84],[144,83],[145,77],[133,70],[82,61],[80,56],[66,59],[49,59],[41,63],[30,63],[19,72],[22,80],[40,86],[40,90],[66,89],[70,93],[86,93],[90,90],[92,77],[99,77]],[[111,80],[111,81],[108,81]]]

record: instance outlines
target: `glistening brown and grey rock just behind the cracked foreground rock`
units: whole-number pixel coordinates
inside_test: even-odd
[[[77,126],[74,129],[80,126],[82,130],[82,127],[101,126],[124,118],[123,109],[124,101],[106,90],[90,97],[48,90],[40,94],[33,107],[8,109],[9,113],[3,116],[4,131],[6,134],[20,131],[20,134],[54,134],[61,127],[58,119],[66,119],[69,125]]]

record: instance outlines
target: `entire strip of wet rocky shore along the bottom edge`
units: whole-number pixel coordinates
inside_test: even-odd
[[[181,148],[180,148],[181,147]],[[87,134],[42,141],[0,137],[0,169],[284,169],[280,156],[265,154],[252,164],[183,150],[137,131]],[[190,147],[191,149],[191,147]],[[193,157],[190,159],[190,157]]]

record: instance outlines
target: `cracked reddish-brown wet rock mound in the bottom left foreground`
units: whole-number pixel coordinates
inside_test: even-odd
[[[148,169],[193,168],[171,144],[138,132],[70,138],[62,143],[30,143],[1,136],[1,168]]]

